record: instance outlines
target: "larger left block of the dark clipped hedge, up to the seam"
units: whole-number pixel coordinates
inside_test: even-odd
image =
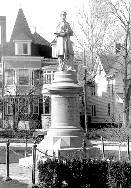
[[[108,187],[108,163],[103,161],[47,160],[39,162],[39,182],[41,188],[62,187]],[[95,181],[94,181],[95,180]]]

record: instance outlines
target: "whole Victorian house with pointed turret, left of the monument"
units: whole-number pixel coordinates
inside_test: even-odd
[[[1,127],[41,128],[43,66],[53,61],[50,43],[37,32],[31,33],[22,9],[9,42],[5,16],[0,17],[0,26]]]

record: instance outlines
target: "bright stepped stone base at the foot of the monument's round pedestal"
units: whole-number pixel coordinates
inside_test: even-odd
[[[59,157],[61,151],[76,151],[82,150],[83,137],[82,136],[63,136],[63,137],[50,137],[45,136],[45,138],[37,145],[36,150],[36,164],[38,161],[43,162],[47,160],[47,157],[53,158]],[[33,164],[33,158],[25,157],[19,159],[19,165],[24,167],[31,167]]]

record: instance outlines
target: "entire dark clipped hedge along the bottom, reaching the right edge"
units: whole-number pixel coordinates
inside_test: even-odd
[[[99,160],[62,161],[38,163],[41,188],[129,188],[131,163]]]

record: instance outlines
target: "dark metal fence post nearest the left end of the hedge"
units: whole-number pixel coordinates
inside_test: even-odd
[[[33,164],[32,164],[32,188],[36,187],[35,185],[35,168],[36,168],[36,141],[34,142],[33,148],[32,148],[32,157],[33,157]]]

